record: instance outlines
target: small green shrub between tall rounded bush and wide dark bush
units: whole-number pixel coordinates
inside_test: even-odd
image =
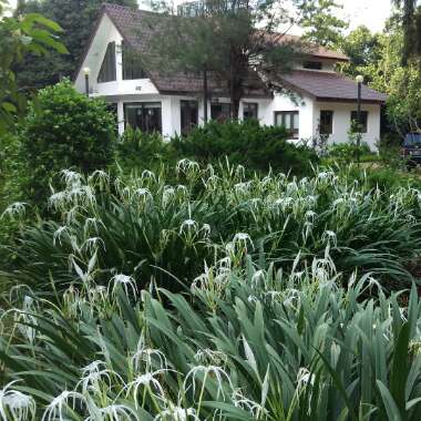
[[[154,170],[161,163],[174,163],[174,151],[160,133],[142,133],[126,129],[116,144],[116,164],[124,173],[131,170]]]

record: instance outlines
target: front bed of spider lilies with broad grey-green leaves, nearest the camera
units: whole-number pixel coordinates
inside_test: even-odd
[[[239,248],[183,294],[141,291],[124,274],[101,287],[83,271],[55,304],[13,290],[2,418],[419,420],[417,289],[401,307],[371,276],[341,279],[328,247],[299,263],[263,269]]]

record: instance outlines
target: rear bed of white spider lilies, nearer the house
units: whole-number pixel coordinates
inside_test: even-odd
[[[174,184],[167,184],[176,178]],[[107,285],[124,273],[138,287],[154,276],[176,291],[204,261],[246,248],[261,261],[289,270],[298,253],[302,268],[326,246],[337,269],[371,273],[386,289],[409,287],[407,267],[421,250],[415,188],[382,192],[331,171],[297,179],[284,174],[246,178],[244,167],[207,166],[183,160],[176,168],[111,178],[64,171],[65,188],[50,197],[55,215],[23,230],[8,277],[52,294],[78,280],[79,271]],[[12,205],[3,218],[18,218]],[[97,260],[95,274],[90,261]],[[86,276],[88,276],[86,275]]]

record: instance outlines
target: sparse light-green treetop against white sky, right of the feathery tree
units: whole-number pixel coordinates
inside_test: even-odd
[[[342,6],[336,0],[305,1],[300,7],[299,25],[304,38],[318,45],[338,48],[343,39],[348,22],[335,16]]]

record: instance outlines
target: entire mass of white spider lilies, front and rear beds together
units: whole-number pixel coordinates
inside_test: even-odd
[[[63,173],[0,319],[3,418],[419,420],[421,302],[381,285],[411,288],[420,193],[176,173]]]

